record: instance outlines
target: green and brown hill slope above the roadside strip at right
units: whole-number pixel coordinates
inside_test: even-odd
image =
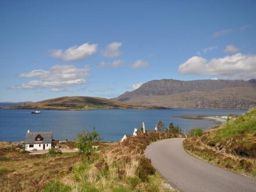
[[[256,158],[256,108],[217,129],[208,131],[204,143],[243,157]]]

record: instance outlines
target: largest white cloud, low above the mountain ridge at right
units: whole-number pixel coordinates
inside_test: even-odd
[[[181,74],[213,75],[250,79],[256,76],[256,55],[235,54],[211,61],[193,56],[179,66]]]

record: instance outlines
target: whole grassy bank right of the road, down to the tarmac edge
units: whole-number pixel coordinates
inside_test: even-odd
[[[256,109],[183,141],[195,157],[256,179]]]

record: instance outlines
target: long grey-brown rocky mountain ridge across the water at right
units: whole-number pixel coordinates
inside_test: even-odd
[[[256,80],[152,80],[114,99],[165,107],[249,109],[256,106]]]

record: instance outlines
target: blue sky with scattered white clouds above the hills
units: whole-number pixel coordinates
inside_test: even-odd
[[[255,1],[0,1],[0,101],[256,78]]]

